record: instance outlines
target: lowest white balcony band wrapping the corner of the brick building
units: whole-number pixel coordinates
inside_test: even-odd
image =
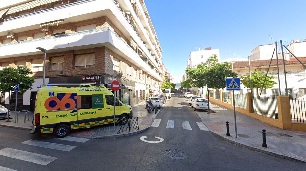
[[[40,54],[41,52],[35,47],[43,47],[48,50],[48,53],[54,53],[102,46],[111,49],[128,61],[132,61],[138,68],[162,81],[155,70],[149,69],[151,66],[109,27],[3,44],[0,46],[0,58]]]

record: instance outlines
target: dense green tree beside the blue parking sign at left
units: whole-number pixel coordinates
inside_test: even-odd
[[[35,82],[31,69],[17,66],[17,68],[3,68],[0,70],[0,90],[2,92],[9,92],[9,112],[10,112],[10,96],[12,91],[14,91],[14,85],[19,84],[19,92],[24,93],[28,89],[32,89],[32,84]],[[9,117],[7,118],[9,121]]]

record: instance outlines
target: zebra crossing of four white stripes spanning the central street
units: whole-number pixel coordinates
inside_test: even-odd
[[[154,119],[153,123],[151,124],[151,127],[159,127],[160,122],[161,122],[161,119]],[[189,121],[181,121],[181,123],[179,122],[179,124],[182,125],[182,128],[184,130],[192,130]],[[203,122],[196,122],[196,124],[198,125],[201,131],[209,131],[209,129],[205,126]],[[168,120],[166,128],[174,129],[174,127],[175,127],[175,121]]]

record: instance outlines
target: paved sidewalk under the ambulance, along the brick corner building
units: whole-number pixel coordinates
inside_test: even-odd
[[[80,138],[114,138],[114,137],[123,137],[143,132],[151,126],[151,122],[160,112],[160,110],[158,110],[156,114],[155,111],[148,113],[147,110],[145,110],[145,107],[146,107],[145,102],[132,106],[133,117],[138,117],[139,130],[132,129],[130,130],[131,132],[123,131],[117,134],[117,132],[120,129],[118,124],[116,124],[115,126],[116,128],[115,131],[114,131],[114,124],[106,124],[106,125],[99,125],[90,128],[85,128],[85,129],[71,130],[69,136],[80,137]],[[6,122],[7,119],[0,120],[0,126],[30,130],[30,128],[33,126],[32,125],[33,113],[30,113],[29,120],[28,120],[28,114],[26,115],[25,123],[24,123],[24,114],[25,114],[24,112],[20,112],[18,117],[18,122],[14,123],[15,112],[11,111],[10,118],[12,119],[10,119],[10,122]]]

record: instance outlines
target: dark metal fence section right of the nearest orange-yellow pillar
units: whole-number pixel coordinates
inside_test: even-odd
[[[306,122],[305,98],[290,99],[291,122]]]

